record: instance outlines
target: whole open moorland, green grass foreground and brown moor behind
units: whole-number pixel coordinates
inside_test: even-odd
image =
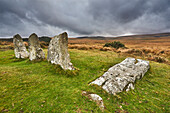
[[[103,47],[113,41],[126,48]],[[48,43],[41,41],[46,57]],[[70,38],[69,53],[76,71],[64,71],[46,60],[16,59],[11,41],[0,44],[0,112],[102,112],[82,91],[99,94],[104,112],[170,112],[169,34]],[[110,95],[89,85],[127,57],[150,61],[151,68],[134,90]]]

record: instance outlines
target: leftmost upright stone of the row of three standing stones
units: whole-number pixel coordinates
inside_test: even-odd
[[[23,43],[23,40],[19,34],[13,37],[14,52],[16,58],[27,58],[29,53]]]

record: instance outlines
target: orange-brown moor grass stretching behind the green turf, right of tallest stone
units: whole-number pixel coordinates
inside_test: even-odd
[[[126,49],[103,47],[105,43],[120,41]],[[114,51],[125,56],[142,57],[151,61],[170,64],[170,34],[136,35],[107,38],[70,38],[70,49]]]

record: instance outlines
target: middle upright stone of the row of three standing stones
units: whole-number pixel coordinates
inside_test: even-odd
[[[45,54],[43,49],[40,46],[38,36],[33,33],[30,35],[29,39],[29,59],[32,60],[41,60],[45,58]]]

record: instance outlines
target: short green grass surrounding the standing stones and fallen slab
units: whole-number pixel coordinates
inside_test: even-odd
[[[105,112],[170,112],[169,65],[150,62],[135,90],[112,96],[88,83],[125,57],[111,51],[69,52],[79,68],[76,73],[65,73],[47,61],[16,59],[12,50],[0,51],[0,112],[101,112],[81,95],[83,90],[99,94]]]

